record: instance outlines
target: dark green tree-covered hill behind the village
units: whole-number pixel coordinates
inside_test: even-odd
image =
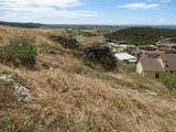
[[[108,41],[125,41],[134,45],[150,45],[165,38],[176,43],[176,30],[156,28],[128,28],[106,35]],[[174,37],[174,38],[173,38]]]

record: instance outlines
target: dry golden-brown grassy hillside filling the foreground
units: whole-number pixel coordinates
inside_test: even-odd
[[[11,82],[0,80],[0,132],[174,132],[176,97],[157,80],[131,72],[90,68],[51,40],[66,31],[0,26],[0,46],[16,36],[33,37],[36,65],[0,63],[33,99],[18,101]],[[80,36],[79,36],[80,40]],[[85,38],[84,41],[91,40]],[[92,38],[94,40],[94,38]],[[89,43],[78,41],[81,47]],[[96,40],[95,40],[96,41]]]

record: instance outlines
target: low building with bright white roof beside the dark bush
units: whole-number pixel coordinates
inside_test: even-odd
[[[114,56],[119,59],[119,61],[129,61],[130,63],[135,63],[136,62],[136,57],[132,56],[129,53],[117,53],[114,54]]]

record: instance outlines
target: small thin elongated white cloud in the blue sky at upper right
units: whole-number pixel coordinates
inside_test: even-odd
[[[147,4],[147,3],[128,3],[123,6],[117,6],[117,8],[127,8],[127,9],[138,9],[138,10],[147,10],[157,8],[158,4]]]

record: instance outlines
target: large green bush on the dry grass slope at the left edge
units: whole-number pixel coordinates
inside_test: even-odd
[[[9,45],[0,48],[0,58],[13,64],[19,61],[22,65],[33,66],[36,63],[36,55],[37,52],[33,38],[12,38]]]

